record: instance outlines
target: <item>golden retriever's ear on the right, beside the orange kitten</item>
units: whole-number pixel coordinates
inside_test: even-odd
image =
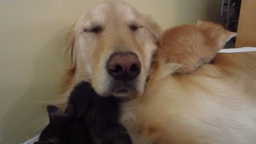
[[[159,37],[161,36],[161,33],[162,33],[162,29],[154,20],[152,20],[149,17],[149,15],[145,15],[144,18],[146,19],[147,29],[149,30],[151,37],[153,38],[155,43],[158,43]]]

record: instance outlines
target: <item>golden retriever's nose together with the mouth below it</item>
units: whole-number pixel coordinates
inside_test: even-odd
[[[110,56],[107,62],[108,74],[111,80],[110,91],[117,95],[137,93],[138,76],[141,62],[133,52],[118,52]]]

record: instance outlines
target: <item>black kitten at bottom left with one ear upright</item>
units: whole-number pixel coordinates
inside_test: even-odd
[[[83,119],[63,114],[57,107],[48,106],[50,123],[34,144],[82,144],[92,143]]]

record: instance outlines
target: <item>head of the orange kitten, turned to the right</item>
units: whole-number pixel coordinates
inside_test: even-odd
[[[224,29],[221,25],[213,22],[197,21],[197,27],[203,31],[203,33],[209,37],[210,42],[215,42],[218,47],[225,45],[230,38],[237,36],[236,33]]]

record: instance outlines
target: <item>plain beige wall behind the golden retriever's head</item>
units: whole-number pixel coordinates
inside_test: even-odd
[[[99,1],[0,1],[0,143],[21,143],[47,124],[45,101],[67,68],[65,34]],[[218,20],[221,0],[130,0],[166,29],[197,19]]]

